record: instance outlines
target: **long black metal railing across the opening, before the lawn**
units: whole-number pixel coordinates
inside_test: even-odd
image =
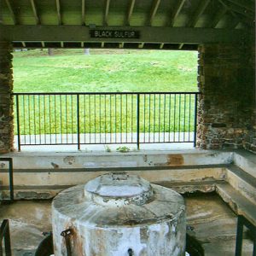
[[[195,92],[15,93],[23,145],[195,143]]]

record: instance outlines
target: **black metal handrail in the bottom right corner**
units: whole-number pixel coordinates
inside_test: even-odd
[[[247,220],[242,215],[237,216],[237,228],[236,228],[236,256],[242,255],[242,236],[243,236],[243,226],[246,226],[253,238],[253,256],[256,256],[256,226]]]

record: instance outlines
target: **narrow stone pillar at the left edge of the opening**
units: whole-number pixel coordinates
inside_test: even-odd
[[[0,154],[13,150],[12,45],[0,42]]]

